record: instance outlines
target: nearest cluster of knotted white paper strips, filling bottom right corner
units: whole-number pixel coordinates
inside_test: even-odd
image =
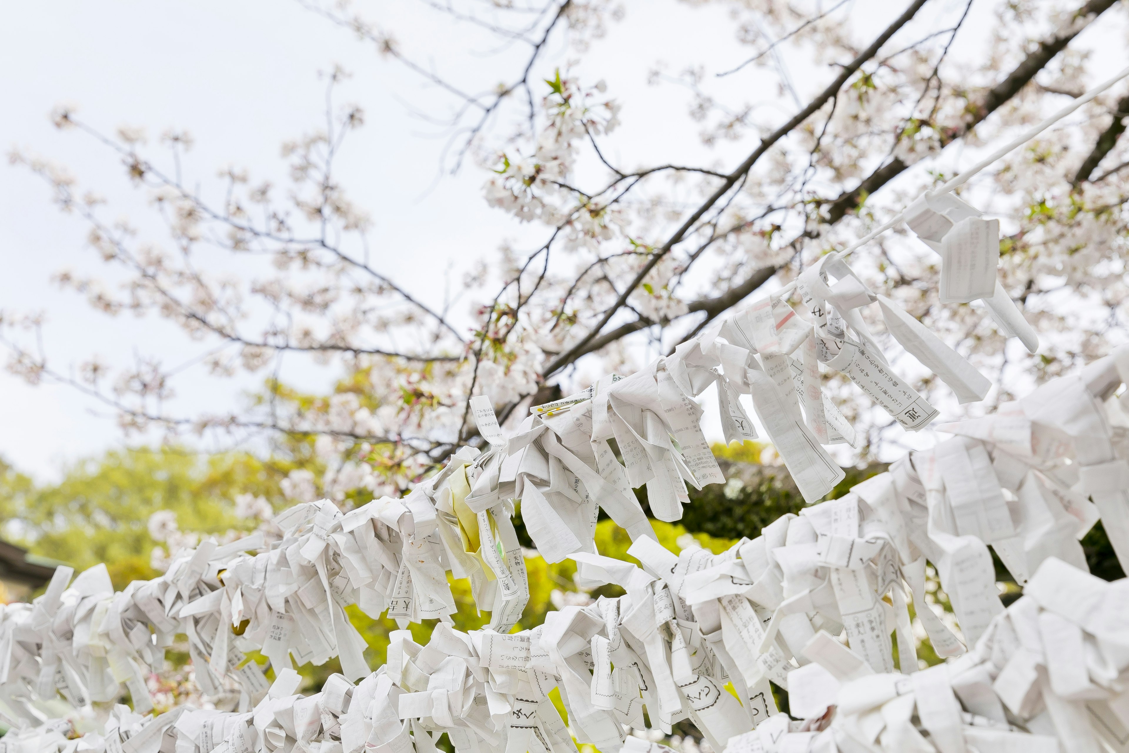
[[[1129,584],[1047,559],[975,647],[909,676],[875,673],[826,633],[789,673],[794,715],[729,753],[1100,753],[1129,738]],[[833,709],[833,712],[829,711]]]

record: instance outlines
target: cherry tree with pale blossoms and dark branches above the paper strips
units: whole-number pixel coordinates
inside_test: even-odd
[[[704,146],[739,147],[745,157],[681,165],[655,154],[627,165],[609,149],[621,95],[584,80],[579,64],[558,67],[546,51],[567,43],[583,61],[645,7],[420,1],[523,50],[520,64],[501,85],[467,88],[444,51],[402,45],[395,28],[347,5],[303,5],[315,23],[339,25],[352,43],[371,45],[448,98],[446,110],[428,113],[449,138],[443,167],[478,170],[482,194],[467,201],[537,228],[540,244],[499,238],[497,255],[462,281],[462,297],[437,303],[409,292],[382,263],[386,252],[370,246],[371,210],[338,178],[335,166],[365,124],[359,107],[341,104],[342,70],[327,77],[324,124],[282,146],[288,185],[226,168],[218,183],[196,189],[186,131],[150,145],[139,129],[111,131],[60,108],[55,126],[120,157],[165,236],[143,237],[129,220],[110,219],[113,207],[49,159],[12,154],[88,228],[90,270],[59,281],[104,314],[154,314],[183,330],[213,376],[254,373],[264,383],[240,410],[181,414],[172,401],[181,377],[156,358],[115,368],[49,357],[51,343],[37,336],[42,318],[19,312],[5,313],[9,368],[88,393],[129,430],[306,438],[327,471],[296,472],[287,487],[295,499],[402,489],[474,437],[471,395],[489,395],[505,422],[553,389],[586,386],[596,371],[630,371],[668,353],[952,176],[964,150],[1006,139],[1079,96],[1103,78],[1079,36],[1124,14],[1115,0],[1000,2],[990,12],[991,44],[965,50],[961,35],[981,11],[972,0],[911,0],[881,26],[859,18],[866,11],[848,0],[690,2],[703,17],[706,7],[723,7],[732,24],[714,33],[735,34],[747,54],[719,61],[702,51],[700,67],[679,73],[656,67],[653,84],[689,96],[686,107],[655,114],[656,126],[689,119]],[[785,51],[812,61],[804,86],[796,86]],[[431,59],[439,62],[423,62]],[[751,89],[779,96],[756,100]],[[1126,91],[1112,88],[962,192],[1003,221],[1001,279],[1043,335],[1036,356],[1009,345],[982,309],[942,306],[938,259],[911,236],[886,236],[852,256],[872,289],[994,376],[998,388],[988,403],[1123,338]],[[239,259],[244,273],[213,271],[224,268],[210,260],[225,256]],[[100,282],[97,263],[123,271],[128,282]],[[877,318],[875,329],[889,344]],[[326,395],[295,391],[281,368],[295,357],[340,375],[339,387]],[[891,358],[938,404],[948,399],[931,375]],[[825,378],[869,438],[859,453],[896,439],[889,417],[849,384]]]

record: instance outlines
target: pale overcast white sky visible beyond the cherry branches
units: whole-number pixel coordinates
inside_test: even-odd
[[[625,21],[614,24],[609,38],[594,45],[580,71],[585,80],[606,78],[625,104],[612,156],[627,164],[647,154],[659,154],[664,161],[738,161],[725,146],[703,159],[698,126],[684,117],[685,93],[646,85],[659,60],[671,71],[702,61],[718,70],[746,56],[747,49],[733,41],[728,15],[720,7],[694,9],[674,0],[624,5]],[[859,0],[851,23],[877,28],[900,10],[898,5]],[[990,5],[978,3],[975,12],[981,7],[987,12]],[[930,12],[951,14],[957,6],[963,3],[938,0]],[[413,0],[361,7],[394,29],[405,50],[441,51],[445,58],[419,59],[462,77],[469,88],[510,78],[514,61],[524,54],[515,47],[491,56],[465,27]],[[489,257],[502,239],[520,245],[541,237],[487,208],[479,190],[483,174],[473,165],[456,176],[440,174],[447,140],[412,111],[441,112],[446,100],[297,2],[52,0],[8,3],[5,14],[0,147],[19,147],[67,165],[81,186],[123,199],[134,221],[145,204],[117,180],[121,170],[113,157],[75,132],[55,131],[47,119],[55,104],[77,104],[84,120],[106,131],[123,123],[142,125],[155,139],[168,126],[187,129],[196,143],[187,172],[207,187],[225,163],[245,166],[254,176],[279,175],[279,145],[321,122],[324,82],[318,71],[341,63],[353,73],[342,99],[359,102],[368,113],[367,126],[341,163],[343,181],[373,213],[373,247],[397,281],[434,301],[441,297],[443,270]],[[984,24],[970,24],[962,44],[974,45],[986,33]],[[572,55],[557,44],[544,64],[548,70],[563,67]],[[800,96],[822,88],[822,71],[813,75],[803,60],[788,62]],[[755,75],[734,79],[734,86],[755,91],[752,98],[778,97],[776,82]],[[789,102],[781,100],[782,111],[794,111]],[[157,352],[168,364],[198,353],[198,345],[163,322],[93,314],[78,296],[50,283],[60,269],[99,271],[84,235],[76,218],[54,209],[37,178],[0,165],[0,308],[47,313],[46,344],[55,367],[91,352],[119,364],[139,351]],[[330,376],[312,369],[294,378],[318,387]],[[182,385],[182,408],[191,413],[230,404],[239,391],[254,386],[254,380]],[[0,456],[41,479],[56,478],[65,463],[122,443],[105,410],[70,388],[32,387],[0,373]]]

